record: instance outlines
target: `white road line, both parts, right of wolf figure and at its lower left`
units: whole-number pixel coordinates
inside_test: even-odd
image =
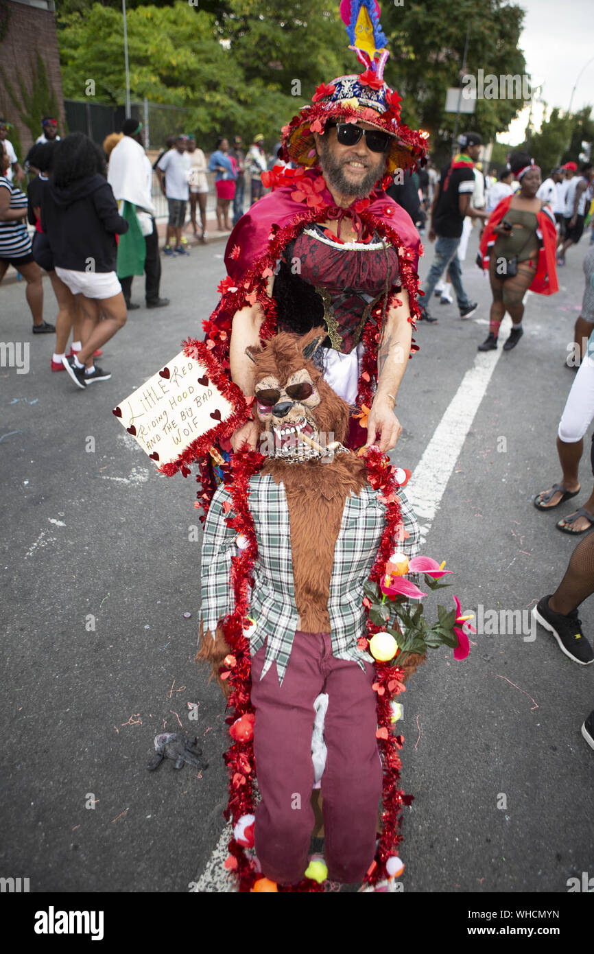
[[[506,317],[501,330],[505,334],[510,327],[511,321]],[[479,351],[473,366],[462,378],[460,387],[446,407],[406,486],[406,496],[417,513],[423,542],[440,508],[441,497],[501,355],[501,346],[497,351]],[[235,878],[223,867],[230,837],[231,825],[226,825],[204,872],[197,880],[196,891],[209,894],[236,892]]]

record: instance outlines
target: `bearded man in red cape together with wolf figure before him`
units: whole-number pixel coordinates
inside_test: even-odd
[[[235,827],[225,866],[240,891],[395,875],[399,811],[410,802],[399,790],[402,739],[390,708],[405,671],[389,662],[399,648],[378,633],[365,588],[388,579],[391,556],[395,572],[408,572],[419,539],[403,472],[382,451],[398,439],[394,404],[416,350],[420,241],[382,186],[423,159],[426,143],[399,122],[398,93],[383,82],[378,5],[352,0],[341,13],[365,69],[321,84],[284,128],[284,156],[297,168],[264,177],[274,191],[237,223],[222,299],[204,322],[215,360],[254,397],[254,419],[212,451],[214,496],[206,467],[198,494],[208,510],[198,658],[229,693],[226,817]],[[365,443],[364,457],[352,452]],[[410,581],[405,588],[423,595]],[[378,620],[388,617],[378,609]],[[372,634],[392,640],[390,653],[373,651]],[[427,645],[405,650],[410,671]],[[327,870],[319,874],[307,862],[322,693]],[[256,857],[246,857],[254,844]]]

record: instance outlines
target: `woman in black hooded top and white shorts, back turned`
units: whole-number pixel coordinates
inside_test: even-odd
[[[50,241],[55,273],[79,296],[82,347],[63,363],[77,387],[112,375],[92,363],[93,353],[124,326],[126,301],[115,274],[116,235],[128,231],[117,211],[98,146],[82,133],[55,147],[53,173],[44,190],[41,227]]]

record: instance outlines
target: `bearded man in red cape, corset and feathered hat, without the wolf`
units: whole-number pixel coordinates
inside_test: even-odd
[[[426,135],[399,119],[399,94],[383,81],[388,52],[379,8],[343,4],[352,49],[364,70],[317,87],[312,104],[282,130],[295,169],[265,173],[273,192],[239,219],[225,254],[220,303],[204,322],[207,345],[248,397],[254,393],[246,347],[276,330],[328,332],[317,353],[326,381],[352,406],[347,445],[396,445],[398,388],[411,351],[420,239],[383,187],[397,169],[424,161]],[[361,30],[361,26],[364,28]],[[359,425],[367,419],[367,433]],[[231,440],[256,446],[248,423]],[[228,460],[231,446],[216,452]],[[215,477],[220,471],[215,469]],[[206,468],[199,495],[213,490]]]

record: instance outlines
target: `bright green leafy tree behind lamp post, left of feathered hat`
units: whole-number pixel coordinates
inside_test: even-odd
[[[98,3],[84,17],[76,11],[60,16],[67,97],[84,98],[92,80],[94,101],[124,102],[122,21],[120,10]],[[296,112],[295,98],[279,91],[272,73],[246,80],[229,44],[219,42],[212,14],[187,4],[138,6],[127,26],[132,98],[189,108],[187,130],[214,137],[249,135],[257,127],[272,141]]]

